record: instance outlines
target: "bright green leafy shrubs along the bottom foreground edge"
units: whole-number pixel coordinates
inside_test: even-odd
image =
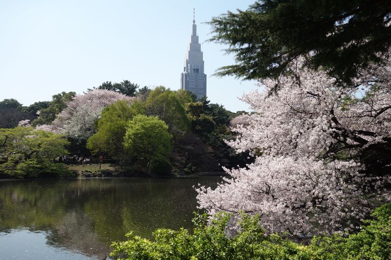
[[[127,236],[114,242],[111,256],[128,260],[237,260],[237,259],[389,259],[391,257],[391,204],[385,204],[365,220],[357,234],[315,237],[308,246],[277,234],[265,235],[259,216],[240,213],[240,220],[220,213],[208,221],[206,214],[193,219],[194,229],[158,229],[154,240]],[[236,223],[235,223],[236,222]]]

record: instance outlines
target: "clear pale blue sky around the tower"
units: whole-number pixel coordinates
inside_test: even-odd
[[[0,100],[23,105],[62,91],[82,94],[104,81],[179,89],[195,7],[208,98],[231,111],[255,81],[211,76],[234,63],[225,46],[204,42],[212,17],[254,0],[0,0]]]

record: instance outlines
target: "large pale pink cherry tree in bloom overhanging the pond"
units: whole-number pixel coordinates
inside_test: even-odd
[[[228,143],[256,160],[227,169],[232,178],[216,189],[198,187],[200,208],[259,213],[268,232],[352,229],[390,183],[390,60],[349,86],[302,59],[290,69],[295,76],[260,80],[264,91],[243,96],[255,113],[232,122],[239,136]]]

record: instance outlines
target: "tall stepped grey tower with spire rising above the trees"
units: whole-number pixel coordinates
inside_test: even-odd
[[[183,72],[180,75],[180,88],[193,92],[197,96],[197,99],[206,96],[206,74],[204,73],[201,44],[198,43],[194,9],[193,32],[185,61],[183,62]]]

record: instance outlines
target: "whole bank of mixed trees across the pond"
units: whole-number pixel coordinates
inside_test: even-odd
[[[225,143],[236,135],[231,121],[246,112],[183,90],[107,81],[83,95],[62,92],[30,106],[2,100],[0,109],[3,178],[72,176],[64,162],[74,155],[102,158],[129,176],[218,172],[251,162]],[[38,144],[46,138],[59,141]]]

